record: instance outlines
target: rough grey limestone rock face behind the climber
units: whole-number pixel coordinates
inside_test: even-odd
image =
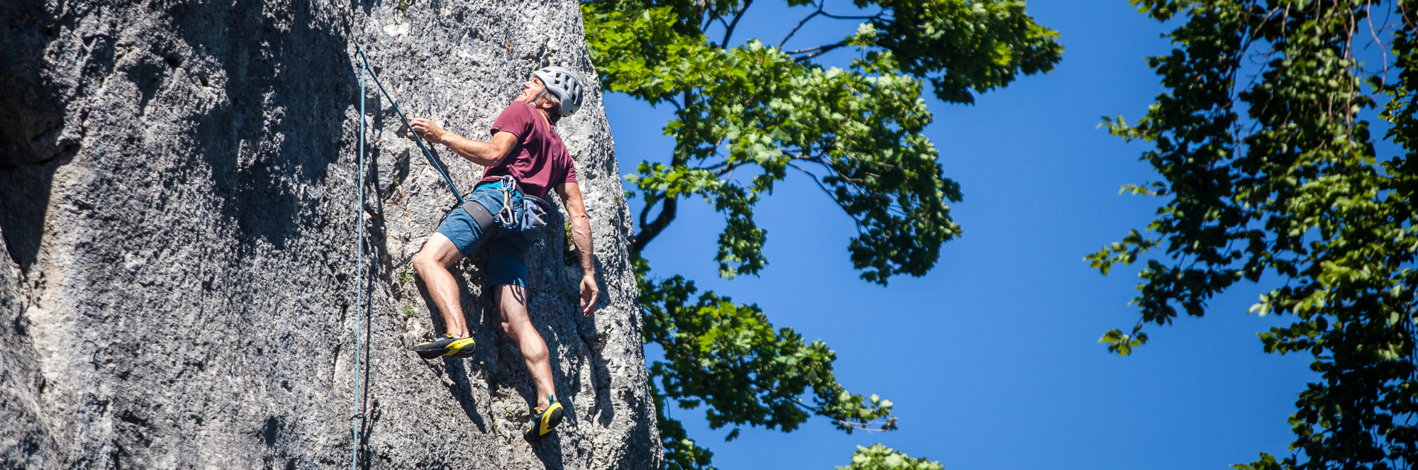
[[[0,1],[0,469],[336,469],[356,439],[369,469],[661,467],[576,1]],[[475,139],[537,67],[593,88],[557,130],[593,219],[597,316],[576,314],[560,222],[529,259],[574,409],[547,440],[520,437],[533,388],[485,255],[458,269],[476,357],[407,350],[441,333],[407,262],[454,195],[370,82],[359,207],[357,48],[410,118]],[[438,150],[472,190],[482,168]]]

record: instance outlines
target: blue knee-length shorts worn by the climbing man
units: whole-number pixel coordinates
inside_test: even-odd
[[[488,212],[498,214],[502,210],[502,190],[496,184],[485,184],[468,194],[468,201],[476,201],[488,208]],[[520,231],[496,231],[491,239],[482,236],[478,221],[462,210],[462,205],[448,212],[442,224],[438,224],[438,234],[444,234],[452,241],[462,256],[472,255],[478,246],[488,245],[488,280],[492,286],[513,285],[522,289],[527,286],[527,251],[535,239],[526,238]]]

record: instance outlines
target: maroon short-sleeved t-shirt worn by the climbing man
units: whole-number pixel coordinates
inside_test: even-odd
[[[542,112],[523,102],[512,102],[492,123],[492,133],[510,132],[518,136],[516,147],[508,156],[482,173],[478,184],[493,177],[510,174],[522,184],[522,191],[535,197],[546,197],[552,187],[562,183],[576,183],[576,161],[566,151],[562,136],[542,118]]]

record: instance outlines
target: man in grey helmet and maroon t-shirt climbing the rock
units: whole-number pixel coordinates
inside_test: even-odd
[[[550,190],[562,198],[580,258],[580,309],[584,316],[591,316],[600,297],[591,259],[591,221],[576,183],[576,164],[553,129],[557,120],[579,108],[581,82],[566,68],[547,67],[522,82],[522,93],[492,123],[492,142],[467,139],[428,119],[410,122],[408,137],[417,132],[423,139],[441,143],[486,167],[482,181],[465,198],[468,202],[454,208],[414,256],[414,270],[428,286],[428,294],[447,326],[447,334],[415,345],[414,351],[424,358],[472,355],[474,341],[462,316],[458,283],[448,269],[486,245],[488,283],[502,314],[502,331],[522,348],[522,358],[536,385],[533,423],[523,433],[533,442],[549,436],[566,411],[556,399],[546,341],[527,317],[526,253],[536,234],[516,227],[533,210],[533,205],[518,201],[542,198]]]

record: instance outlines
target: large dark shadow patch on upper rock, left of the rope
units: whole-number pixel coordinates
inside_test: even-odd
[[[330,222],[306,188],[322,185],[329,167],[339,163],[342,120],[330,116],[343,116],[356,101],[347,84],[357,76],[343,50],[343,31],[299,20],[318,17],[313,8],[294,3],[282,18],[230,3],[173,6],[179,38],[169,47],[159,42],[157,48],[167,50],[155,51],[167,62],[155,67],[186,67],[223,89],[223,102],[193,116],[189,142],[200,159],[190,159],[183,170],[194,180],[210,178],[221,215],[247,248],[265,241],[282,249],[302,228]],[[251,41],[244,38],[250,24],[286,31],[271,41]],[[182,51],[189,48],[217,58],[218,65],[186,64]]]

